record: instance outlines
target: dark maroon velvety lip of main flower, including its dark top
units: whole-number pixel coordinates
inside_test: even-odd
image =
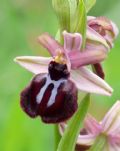
[[[38,74],[21,93],[21,107],[32,118],[58,123],[77,110],[77,88],[65,64],[50,62],[48,74]]]

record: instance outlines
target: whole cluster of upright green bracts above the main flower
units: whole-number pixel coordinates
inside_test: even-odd
[[[86,6],[83,0],[53,0],[53,7],[58,16],[60,31],[81,33],[83,47],[86,37]]]

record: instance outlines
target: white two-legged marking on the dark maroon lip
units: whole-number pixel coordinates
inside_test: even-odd
[[[46,76],[45,76],[46,77]],[[60,79],[58,81],[55,81],[55,80],[51,80],[50,76],[47,76],[46,77],[46,83],[45,85],[40,89],[40,92],[38,93],[38,95],[36,96],[36,102],[38,104],[41,103],[42,101],[42,98],[44,96],[44,93],[47,89],[47,87],[50,85],[50,84],[53,84],[54,85],[54,88],[52,90],[52,93],[51,93],[51,96],[49,98],[49,101],[48,101],[48,104],[47,104],[47,107],[51,106],[53,103],[55,103],[55,98],[56,98],[56,95],[57,95],[57,90],[59,88],[59,86],[65,82],[66,80],[64,79]]]

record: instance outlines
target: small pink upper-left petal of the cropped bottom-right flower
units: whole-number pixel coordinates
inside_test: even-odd
[[[94,134],[94,135],[99,135],[100,132],[102,131],[101,125],[96,121],[95,118],[93,118],[91,115],[88,115],[85,118],[85,129],[87,130],[88,133]]]

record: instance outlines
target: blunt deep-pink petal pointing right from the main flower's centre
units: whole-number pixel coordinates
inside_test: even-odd
[[[69,53],[71,66],[73,69],[77,69],[78,67],[96,64],[103,61],[106,58],[107,54],[103,50],[86,50],[83,52],[80,51],[72,51]]]

